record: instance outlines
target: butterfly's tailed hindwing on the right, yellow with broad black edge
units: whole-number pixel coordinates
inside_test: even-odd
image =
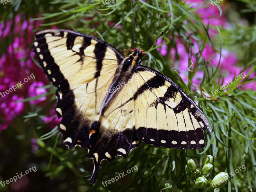
[[[117,91],[116,97],[104,108],[99,132],[92,135],[89,144],[88,156],[94,162],[91,184],[95,182],[103,160],[111,161],[117,155],[127,156],[139,145],[135,130],[133,85],[131,81],[125,84],[120,82],[114,89],[120,91]]]

